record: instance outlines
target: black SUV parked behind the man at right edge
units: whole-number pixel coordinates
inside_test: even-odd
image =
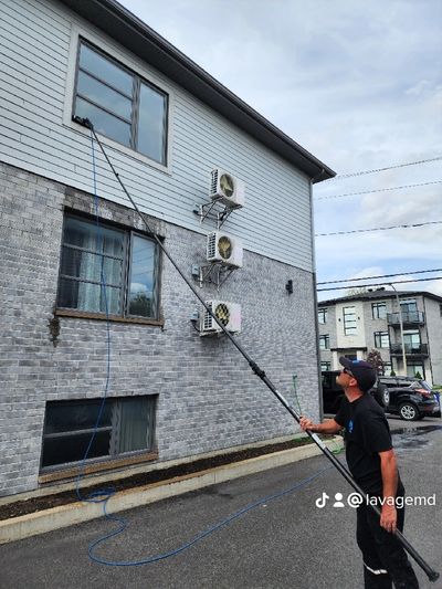
[[[441,417],[438,398],[424,380],[412,377],[380,377],[382,400],[387,413],[399,414],[406,421]]]

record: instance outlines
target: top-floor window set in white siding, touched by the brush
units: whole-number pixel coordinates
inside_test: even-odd
[[[74,96],[74,116],[88,118],[97,133],[166,165],[166,93],[81,41]]]

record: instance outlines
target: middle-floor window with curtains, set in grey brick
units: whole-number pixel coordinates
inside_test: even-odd
[[[155,319],[158,274],[158,246],[152,240],[65,217],[59,307]]]

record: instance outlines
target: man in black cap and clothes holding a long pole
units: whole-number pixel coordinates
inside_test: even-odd
[[[403,529],[404,488],[388,421],[368,393],[376,382],[376,371],[364,360],[341,357],[339,362],[344,369],[336,382],[343,387],[345,398],[335,419],[315,424],[302,418],[301,427],[316,433],[338,433],[345,428],[346,457],[352,477],[372,501],[378,501],[380,519],[366,502],[357,509],[356,537],[364,557],[366,589],[391,589],[392,582],[396,588],[419,589],[407,554],[393,534],[397,528]]]

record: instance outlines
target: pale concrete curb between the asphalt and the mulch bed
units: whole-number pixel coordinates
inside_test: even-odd
[[[326,442],[327,446],[343,445],[343,439],[336,438]],[[218,466],[200,473],[170,478],[150,485],[128,488],[115,494],[107,503],[107,513],[117,513],[147,503],[173,497],[189,491],[223,483],[240,476],[253,474],[292,462],[309,459],[320,454],[316,444],[308,444],[282,452],[265,454],[255,459]],[[38,534],[80,524],[103,515],[103,504],[99,503],[71,503],[44,512],[22,515],[0,522],[0,544],[15,541]]]

